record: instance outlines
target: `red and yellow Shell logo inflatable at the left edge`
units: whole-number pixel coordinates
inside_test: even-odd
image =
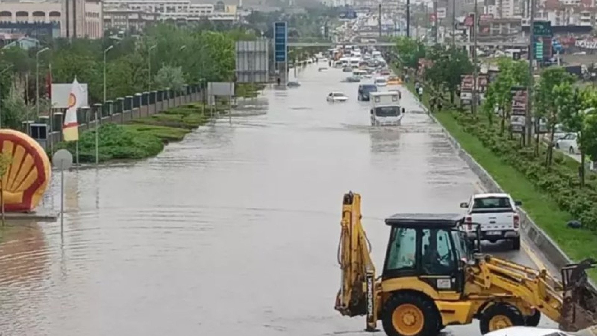
[[[51,165],[44,148],[17,130],[0,129],[0,151],[12,163],[2,178],[4,209],[28,212],[38,206],[51,178]]]

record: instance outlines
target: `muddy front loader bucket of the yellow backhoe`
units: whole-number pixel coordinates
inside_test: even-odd
[[[589,284],[586,270],[597,264],[592,258],[562,268],[564,305],[559,328],[577,332],[597,325],[597,291]]]

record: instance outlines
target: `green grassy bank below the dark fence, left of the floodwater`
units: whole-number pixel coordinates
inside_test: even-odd
[[[204,113],[202,104],[190,103],[123,125],[103,124],[99,129],[99,161],[153,157],[164,149],[165,144],[182,140],[207,120],[208,112]],[[61,142],[56,149],[68,149],[75,154],[75,146],[75,142]],[[80,135],[79,161],[96,161],[95,129]]]

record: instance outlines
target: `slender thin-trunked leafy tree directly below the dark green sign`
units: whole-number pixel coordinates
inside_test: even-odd
[[[558,102],[567,101],[571,97],[560,97],[561,94],[568,95],[572,91],[569,87],[557,88],[559,84],[574,83],[574,77],[564,68],[559,66],[550,66],[541,73],[538,83],[534,91],[534,117],[536,120],[545,118],[547,121],[547,129],[549,130],[549,146],[545,155],[545,164],[547,167],[551,166],[553,160],[553,136],[556,125],[558,124]],[[540,135],[537,132],[536,152],[538,152],[538,141]]]

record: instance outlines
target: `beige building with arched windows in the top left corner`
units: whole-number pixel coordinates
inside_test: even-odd
[[[61,37],[103,37],[100,0],[0,2],[0,22],[21,25],[59,23]]]

